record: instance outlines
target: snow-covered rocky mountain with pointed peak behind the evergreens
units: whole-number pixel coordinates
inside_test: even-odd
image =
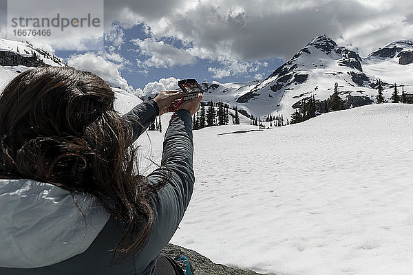
[[[328,36],[310,41],[284,65],[262,81],[247,83],[202,83],[205,100],[222,100],[255,116],[268,113],[289,118],[304,99],[315,96],[316,107],[329,98],[335,83],[346,107],[375,102],[379,79],[384,97],[390,99],[396,85],[413,94],[413,42],[396,41],[366,58],[348,47],[337,45]]]

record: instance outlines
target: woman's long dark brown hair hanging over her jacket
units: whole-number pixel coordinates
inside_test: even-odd
[[[0,177],[95,195],[125,222],[115,252],[139,251],[153,223],[148,195],[163,183],[151,186],[138,175],[131,122],[114,100],[89,72],[41,67],[19,74],[0,96]]]

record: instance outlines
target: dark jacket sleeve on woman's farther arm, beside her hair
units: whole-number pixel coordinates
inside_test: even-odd
[[[131,122],[134,141],[151,125],[159,115],[159,107],[155,100],[145,100],[123,115]]]

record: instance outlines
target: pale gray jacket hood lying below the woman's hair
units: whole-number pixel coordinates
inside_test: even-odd
[[[43,267],[81,254],[109,219],[96,197],[32,179],[0,179],[0,209],[0,267]]]

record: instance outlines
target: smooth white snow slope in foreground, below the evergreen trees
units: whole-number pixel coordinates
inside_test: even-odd
[[[194,131],[195,189],[172,243],[268,274],[412,274],[413,105],[240,129],[257,127]],[[151,151],[138,144],[159,164],[162,134],[148,133]]]

